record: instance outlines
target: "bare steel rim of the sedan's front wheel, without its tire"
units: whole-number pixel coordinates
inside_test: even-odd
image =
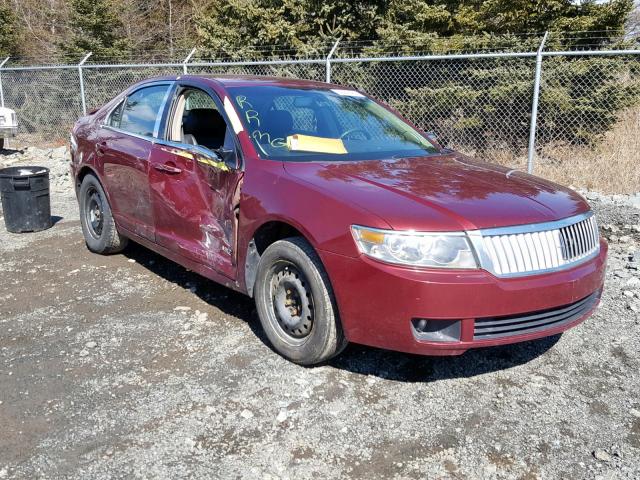
[[[315,309],[309,282],[291,262],[279,261],[268,281],[269,321],[290,345],[302,345],[313,330]]]

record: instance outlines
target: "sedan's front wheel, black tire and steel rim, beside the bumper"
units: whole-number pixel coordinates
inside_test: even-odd
[[[289,360],[315,365],[347,346],[327,272],[303,238],[278,240],[264,251],[255,300],[269,341]]]

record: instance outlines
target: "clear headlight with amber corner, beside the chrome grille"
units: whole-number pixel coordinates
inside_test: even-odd
[[[383,262],[434,268],[478,268],[464,232],[423,233],[352,225],[358,249]]]

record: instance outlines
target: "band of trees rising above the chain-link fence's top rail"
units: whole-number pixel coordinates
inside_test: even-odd
[[[313,55],[326,44],[430,51],[465,40],[546,30],[574,43],[636,28],[633,0],[0,0],[0,54],[37,61]],[[631,25],[631,23],[634,23]],[[600,38],[577,35],[597,31]],[[476,40],[482,46],[482,40]],[[486,42],[486,40],[485,40]]]

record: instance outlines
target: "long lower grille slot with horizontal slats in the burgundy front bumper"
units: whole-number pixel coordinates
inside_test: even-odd
[[[597,303],[599,295],[599,292],[595,292],[569,305],[537,312],[478,318],[475,321],[473,339],[484,340],[523,335],[569,324],[591,310]]]

